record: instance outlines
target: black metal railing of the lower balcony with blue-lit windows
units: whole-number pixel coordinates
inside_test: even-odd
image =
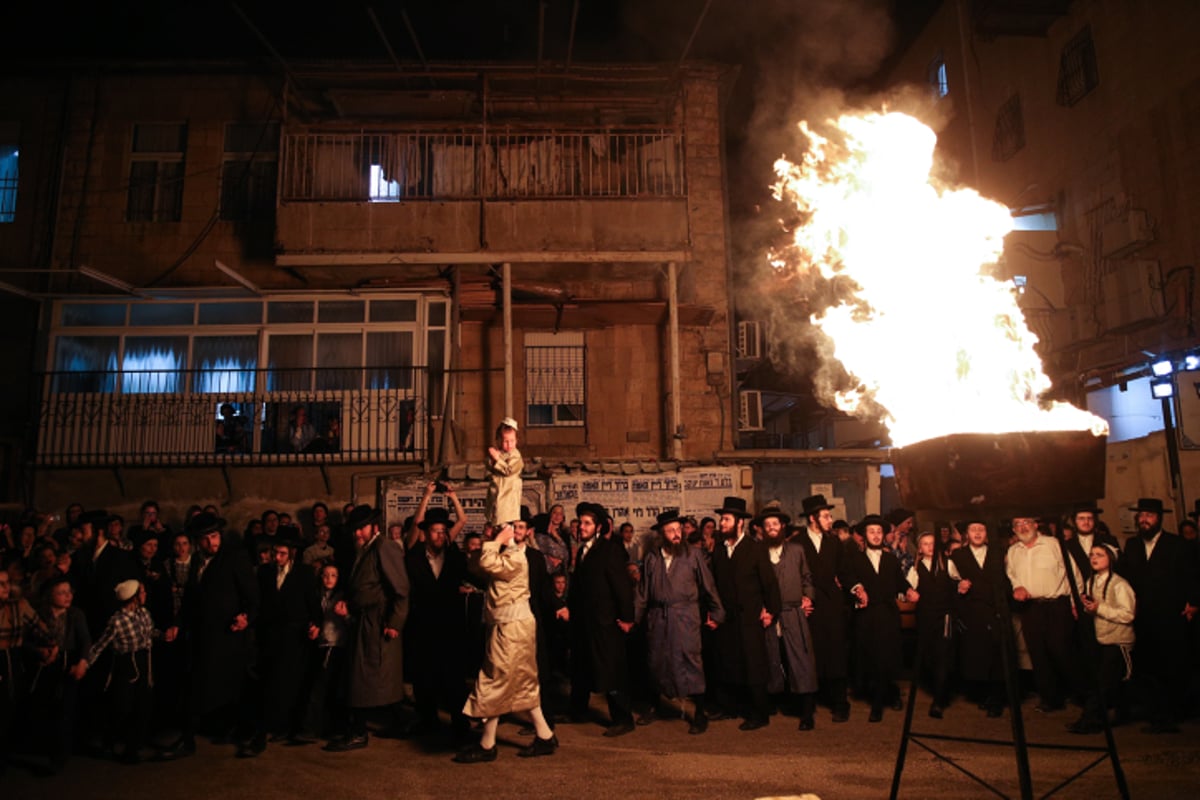
[[[41,383],[41,465],[388,463],[425,459],[443,373],[59,372]]]

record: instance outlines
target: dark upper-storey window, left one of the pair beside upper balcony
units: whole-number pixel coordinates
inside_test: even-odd
[[[179,222],[184,210],[184,151],[187,126],[133,126],[130,158],[130,222]]]

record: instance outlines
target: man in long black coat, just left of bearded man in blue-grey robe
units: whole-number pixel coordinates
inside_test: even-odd
[[[606,736],[634,729],[629,699],[625,634],[634,626],[634,585],[625,572],[625,548],[607,539],[608,512],[596,503],[575,507],[580,546],[575,558],[569,612],[571,621],[571,716],[582,721],[588,696],[608,702]]]

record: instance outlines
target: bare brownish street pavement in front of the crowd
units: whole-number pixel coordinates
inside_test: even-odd
[[[600,698],[594,698],[599,710]],[[929,698],[919,694],[913,730],[918,734],[1012,740],[1006,712],[988,718],[973,704],[958,702],[943,720],[925,716]],[[1066,732],[1078,709],[1039,714],[1024,705],[1031,744],[1103,747],[1104,736]],[[659,720],[617,739],[599,722],[558,726],[560,747],[550,757],[517,757],[528,744],[518,727],[503,723],[499,757],[484,764],[455,764],[448,739],[396,740],[372,736],[359,751],[329,753],[320,745],[272,744],[254,759],[234,757],[233,745],[200,739],[197,753],[172,763],[136,766],[86,756],[72,758],[56,776],[37,759],[18,760],[0,786],[4,798],[59,800],[191,800],[221,798],[775,798],[814,794],[823,800],[887,798],[901,740],[904,714],[886,711],[869,723],[868,709],[854,703],[851,720],[835,724],[818,710],[816,729],[800,732],[794,717],[776,715],[766,728],[740,732],[738,721],[713,722],[706,734],[688,735],[683,720]],[[1114,729],[1121,766],[1133,798],[1200,796],[1200,722],[1181,733],[1150,735],[1141,723]],[[920,739],[925,745],[992,783],[1002,796],[1020,796],[1015,750],[1008,746]],[[1034,796],[1044,796],[1088,764],[1104,759],[1057,798],[1100,800],[1120,793],[1104,753],[1030,751]],[[992,798],[950,763],[912,741],[900,783],[901,798]]]

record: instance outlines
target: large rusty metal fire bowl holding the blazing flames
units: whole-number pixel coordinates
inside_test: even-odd
[[[907,509],[1049,512],[1104,497],[1106,441],[1087,431],[954,433],[896,450],[892,463]]]

